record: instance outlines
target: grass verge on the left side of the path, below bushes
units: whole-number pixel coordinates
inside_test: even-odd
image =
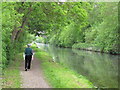
[[[22,53],[15,56],[15,60],[3,70],[2,88],[20,88],[21,76],[20,76],[20,63],[23,56]]]

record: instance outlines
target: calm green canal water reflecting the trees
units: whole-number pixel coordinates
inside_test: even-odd
[[[59,48],[37,43],[38,47],[48,52],[57,63],[85,76],[100,88],[118,88],[118,57],[115,55]]]

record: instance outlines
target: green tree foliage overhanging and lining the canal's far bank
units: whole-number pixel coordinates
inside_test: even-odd
[[[34,14],[31,19],[39,23],[35,23],[37,28],[34,33],[45,31],[48,43],[60,47],[72,47],[78,43],[95,44],[102,52],[119,52],[118,3],[53,2],[38,3],[36,7],[40,9],[32,14],[38,11],[39,18]],[[29,22],[33,29],[34,22]]]

